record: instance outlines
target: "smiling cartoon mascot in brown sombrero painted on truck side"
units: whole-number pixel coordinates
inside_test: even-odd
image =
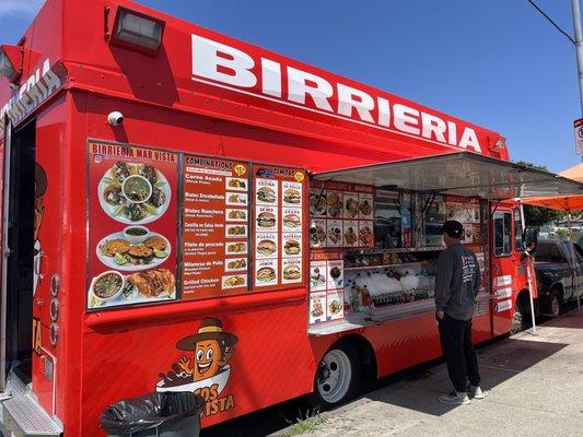
[[[210,379],[226,367],[237,340],[236,335],[223,331],[221,320],[206,318],[196,334],[186,336],[176,343],[178,350],[195,353],[193,366],[191,361],[186,356],[178,361],[178,366],[186,374],[191,375],[195,382]]]

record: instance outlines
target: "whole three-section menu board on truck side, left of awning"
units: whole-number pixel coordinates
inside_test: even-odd
[[[88,309],[305,284],[301,168],[89,142]]]

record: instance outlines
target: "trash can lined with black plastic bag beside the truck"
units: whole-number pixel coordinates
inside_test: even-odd
[[[108,437],[198,437],[203,406],[191,392],[155,392],[109,405],[101,423]]]

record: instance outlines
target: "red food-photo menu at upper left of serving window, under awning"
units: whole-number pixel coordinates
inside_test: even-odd
[[[310,190],[310,247],[374,247],[373,187],[316,182]]]

